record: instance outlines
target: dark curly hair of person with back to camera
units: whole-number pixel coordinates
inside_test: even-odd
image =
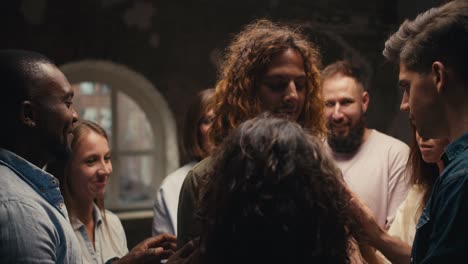
[[[200,263],[349,263],[350,196],[320,140],[261,114],[213,159],[198,211]]]

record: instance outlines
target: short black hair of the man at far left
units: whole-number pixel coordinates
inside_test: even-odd
[[[3,126],[0,138],[14,133],[17,128],[20,104],[30,97],[35,83],[44,74],[39,67],[41,63],[54,64],[37,52],[0,50],[0,118]]]

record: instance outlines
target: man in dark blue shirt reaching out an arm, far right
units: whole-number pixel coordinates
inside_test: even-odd
[[[425,138],[448,137],[413,247],[378,228],[362,203],[360,237],[393,263],[461,263],[468,259],[468,1],[456,0],[406,20],[385,43],[400,66],[401,110]],[[358,201],[358,199],[355,199]],[[410,257],[411,256],[411,257]]]

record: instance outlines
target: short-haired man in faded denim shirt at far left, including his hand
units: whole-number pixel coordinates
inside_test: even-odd
[[[73,88],[48,58],[21,50],[0,50],[0,80],[1,262],[81,263],[59,182],[43,170],[70,153]],[[160,261],[173,241],[147,239],[116,263]]]

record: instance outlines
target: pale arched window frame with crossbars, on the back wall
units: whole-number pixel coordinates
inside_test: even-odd
[[[131,70],[125,65],[102,60],[83,60],[66,63],[59,67],[68,78],[70,84],[80,82],[99,82],[109,85],[112,89],[112,152],[114,171],[106,193],[106,207],[113,211],[131,211],[151,209],[154,196],[162,180],[170,172],[179,167],[179,152],[177,147],[177,131],[175,118],[169,106],[157,88],[143,75]],[[115,89],[115,91],[114,91]],[[127,202],[121,200],[120,189],[120,154],[124,156],[138,151],[120,151],[117,144],[117,91],[130,97],[145,113],[154,137],[155,172],[152,177],[154,193],[145,201]],[[146,152],[146,151],[141,151]],[[138,154],[136,154],[138,156]]]

